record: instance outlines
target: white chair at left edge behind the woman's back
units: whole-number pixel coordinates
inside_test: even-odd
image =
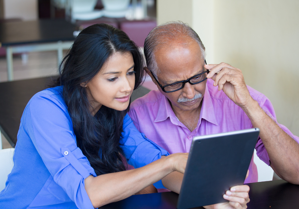
[[[0,150],[0,191],[5,188],[7,175],[13,169],[14,148]]]

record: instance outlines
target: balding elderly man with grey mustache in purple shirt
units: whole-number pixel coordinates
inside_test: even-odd
[[[169,153],[184,153],[194,136],[258,127],[257,156],[282,179],[299,184],[299,138],[277,123],[269,99],[246,86],[241,70],[205,64],[205,47],[191,27],[155,27],[144,53],[158,90],[131,104],[129,115],[140,132]],[[245,183],[257,182],[253,158],[248,170]]]

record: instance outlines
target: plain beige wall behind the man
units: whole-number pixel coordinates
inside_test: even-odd
[[[158,0],[158,23],[184,17],[208,62],[240,68],[246,84],[271,100],[278,122],[299,136],[299,1],[192,0],[191,20],[190,1],[187,9],[181,2]]]

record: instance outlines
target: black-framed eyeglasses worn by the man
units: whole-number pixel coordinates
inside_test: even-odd
[[[205,61],[205,64],[207,64],[207,62]],[[149,72],[152,73],[151,70],[149,70]],[[165,93],[170,93],[170,92],[174,92],[174,91],[178,91],[182,88],[184,88],[185,86],[185,83],[190,83],[191,85],[194,85],[194,84],[198,84],[198,83],[201,83],[205,80],[207,80],[207,76],[205,73],[209,73],[210,71],[207,70],[205,72],[202,72],[196,76],[193,76],[191,77],[190,79],[187,79],[185,81],[179,81],[179,82],[175,82],[175,83],[172,83],[172,84],[168,84],[168,85],[165,85],[165,86],[162,86],[158,80],[156,79],[156,77],[154,76],[154,74],[152,73],[152,76],[154,77],[154,79],[156,80],[156,82],[159,84],[159,86],[161,87],[162,91],[164,91]]]

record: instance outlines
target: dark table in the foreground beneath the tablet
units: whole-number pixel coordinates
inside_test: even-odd
[[[247,185],[250,187],[248,209],[299,208],[299,185],[284,180]],[[178,197],[174,192],[133,195],[99,209],[176,209]]]

